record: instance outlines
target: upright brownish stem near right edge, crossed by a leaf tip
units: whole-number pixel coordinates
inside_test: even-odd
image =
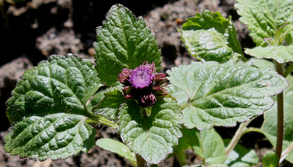
[[[276,62],[277,72],[284,76],[283,64]],[[277,144],[276,144],[276,154],[280,160],[282,153],[283,145],[283,136],[284,136],[284,101],[283,101],[283,92],[277,95]]]

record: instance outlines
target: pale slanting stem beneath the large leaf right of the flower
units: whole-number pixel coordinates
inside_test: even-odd
[[[246,130],[246,126],[251,122],[252,120],[249,119],[246,122],[243,122],[240,124],[239,128],[237,129],[235,135],[233,136],[232,140],[230,141],[229,145],[226,148],[226,157],[228,157],[228,155],[230,154],[230,152],[235,148],[236,144],[238,143],[238,141],[240,140],[240,138],[242,137],[242,133],[243,131]]]

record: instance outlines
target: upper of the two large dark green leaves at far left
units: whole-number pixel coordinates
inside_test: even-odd
[[[50,56],[26,70],[7,101],[7,117],[15,124],[30,115],[66,112],[87,115],[88,99],[102,85],[91,60],[69,54]]]

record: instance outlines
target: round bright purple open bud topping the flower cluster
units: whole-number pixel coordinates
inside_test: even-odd
[[[129,76],[129,82],[135,89],[143,89],[150,86],[150,84],[153,83],[154,78],[155,76],[153,75],[150,67],[139,66],[131,71],[131,75]]]

